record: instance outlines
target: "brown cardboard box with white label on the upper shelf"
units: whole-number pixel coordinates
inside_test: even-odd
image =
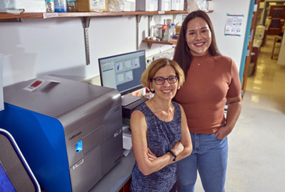
[[[108,0],[77,0],[77,11],[108,11]]]

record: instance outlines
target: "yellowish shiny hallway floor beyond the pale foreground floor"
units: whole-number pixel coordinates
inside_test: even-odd
[[[261,47],[256,73],[247,80],[243,104],[285,114],[285,65],[277,65],[278,55],[271,60],[273,42],[274,36],[267,36],[266,45]],[[279,53],[278,46],[274,53]]]

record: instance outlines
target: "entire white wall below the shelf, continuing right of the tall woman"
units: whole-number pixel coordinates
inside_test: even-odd
[[[223,55],[234,59],[238,68],[244,44],[249,12],[248,0],[212,1],[216,40]],[[224,36],[226,14],[244,14],[242,36]],[[161,23],[172,15],[154,16],[151,25]],[[174,23],[181,23],[177,15]],[[139,23],[139,50],[146,56],[159,53],[161,45],[151,49],[142,39],[147,36],[148,17]],[[4,86],[16,82],[56,74],[84,80],[99,75],[98,58],[136,50],[136,17],[91,18],[89,26],[91,65],[86,65],[84,28],[81,18],[29,18],[21,23],[0,23],[0,53],[4,53]],[[162,50],[171,46],[161,46]]]

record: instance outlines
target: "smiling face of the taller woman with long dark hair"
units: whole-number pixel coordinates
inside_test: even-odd
[[[208,53],[211,31],[204,18],[196,17],[188,22],[185,39],[191,55],[201,56]]]

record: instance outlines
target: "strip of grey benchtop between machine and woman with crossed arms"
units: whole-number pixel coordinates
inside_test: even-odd
[[[135,164],[134,151],[131,150],[128,156],[124,156],[123,159],[109,171],[106,176],[96,183],[89,192],[117,192],[125,185],[129,178],[131,178],[131,171]]]

